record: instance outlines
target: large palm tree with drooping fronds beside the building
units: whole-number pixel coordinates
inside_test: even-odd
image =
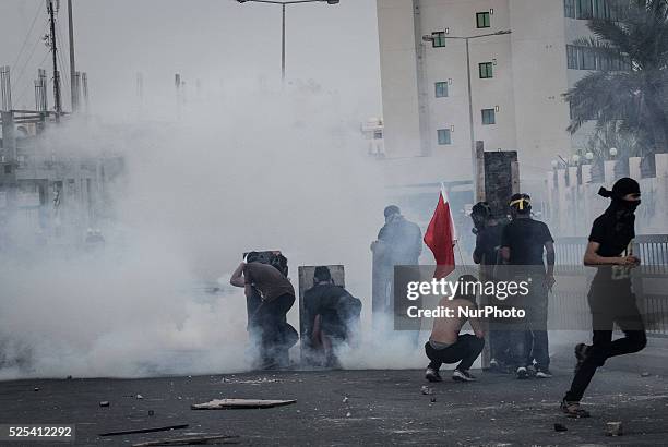
[[[610,0],[608,0],[610,1]],[[632,136],[639,155],[668,152],[668,0],[615,0],[617,21],[594,19],[594,34],[573,44],[591,51],[597,71],[564,96],[575,133],[596,120],[596,134],[612,125]]]

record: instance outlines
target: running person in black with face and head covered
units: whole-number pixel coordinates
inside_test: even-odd
[[[618,180],[612,191],[601,188],[603,197],[611,198],[606,212],[594,220],[584,265],[597,267],[587,295],[592,311],[592,345],[575,347],[575,376],[561,401],[561,410],[572,416],[587,418],[580,407],[592,377],[607,359],[642,350],[647,343],[642,316],[631,290],[631,268],[640,265],[632,254],[635,238],[635,209],[641,204],[639,183],[630,178]],[[612,341],[613,325],[624,337]]]

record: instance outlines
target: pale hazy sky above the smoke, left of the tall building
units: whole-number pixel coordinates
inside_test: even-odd
[[[61,3],[59,27],[67,41],[67,0]],[[201,80],[210,92],[261,77],[271,83],[281,76],[278,5],[236,0],[74,0],[73,10],[76,65],[88,73],[98,111],[134,100],[138,72],[144,73],[146,97],[170,95],[176,72],[192,86]],[[14,108],[32,109],[32,81],[39,63],[44,61],[41,67],[50,73],[47,49],[38,43],[47,32],[45,1],[1,0],[0,29],[0,65],[12,65]],[[63,50],[67,65],[67,47]],[[289,7],[287,72],[288,78],[312,78],[336,89],[360,114],[379,114],[375,0]],[[51,98],[49,102],[52,106]]]

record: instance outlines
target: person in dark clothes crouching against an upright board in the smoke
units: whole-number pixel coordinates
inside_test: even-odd
[[[361,301],[335,286],[327,267],[317,267],[313,287],[305,292],[303,303],[308,339],[302,342],[309,360],[317,366],[341,367],[337,350],[358,342]]]

